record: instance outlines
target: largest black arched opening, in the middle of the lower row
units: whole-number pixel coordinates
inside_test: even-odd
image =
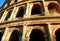
[[[39,29],[32,30],[29,41],[45,41],[44,33]]]

